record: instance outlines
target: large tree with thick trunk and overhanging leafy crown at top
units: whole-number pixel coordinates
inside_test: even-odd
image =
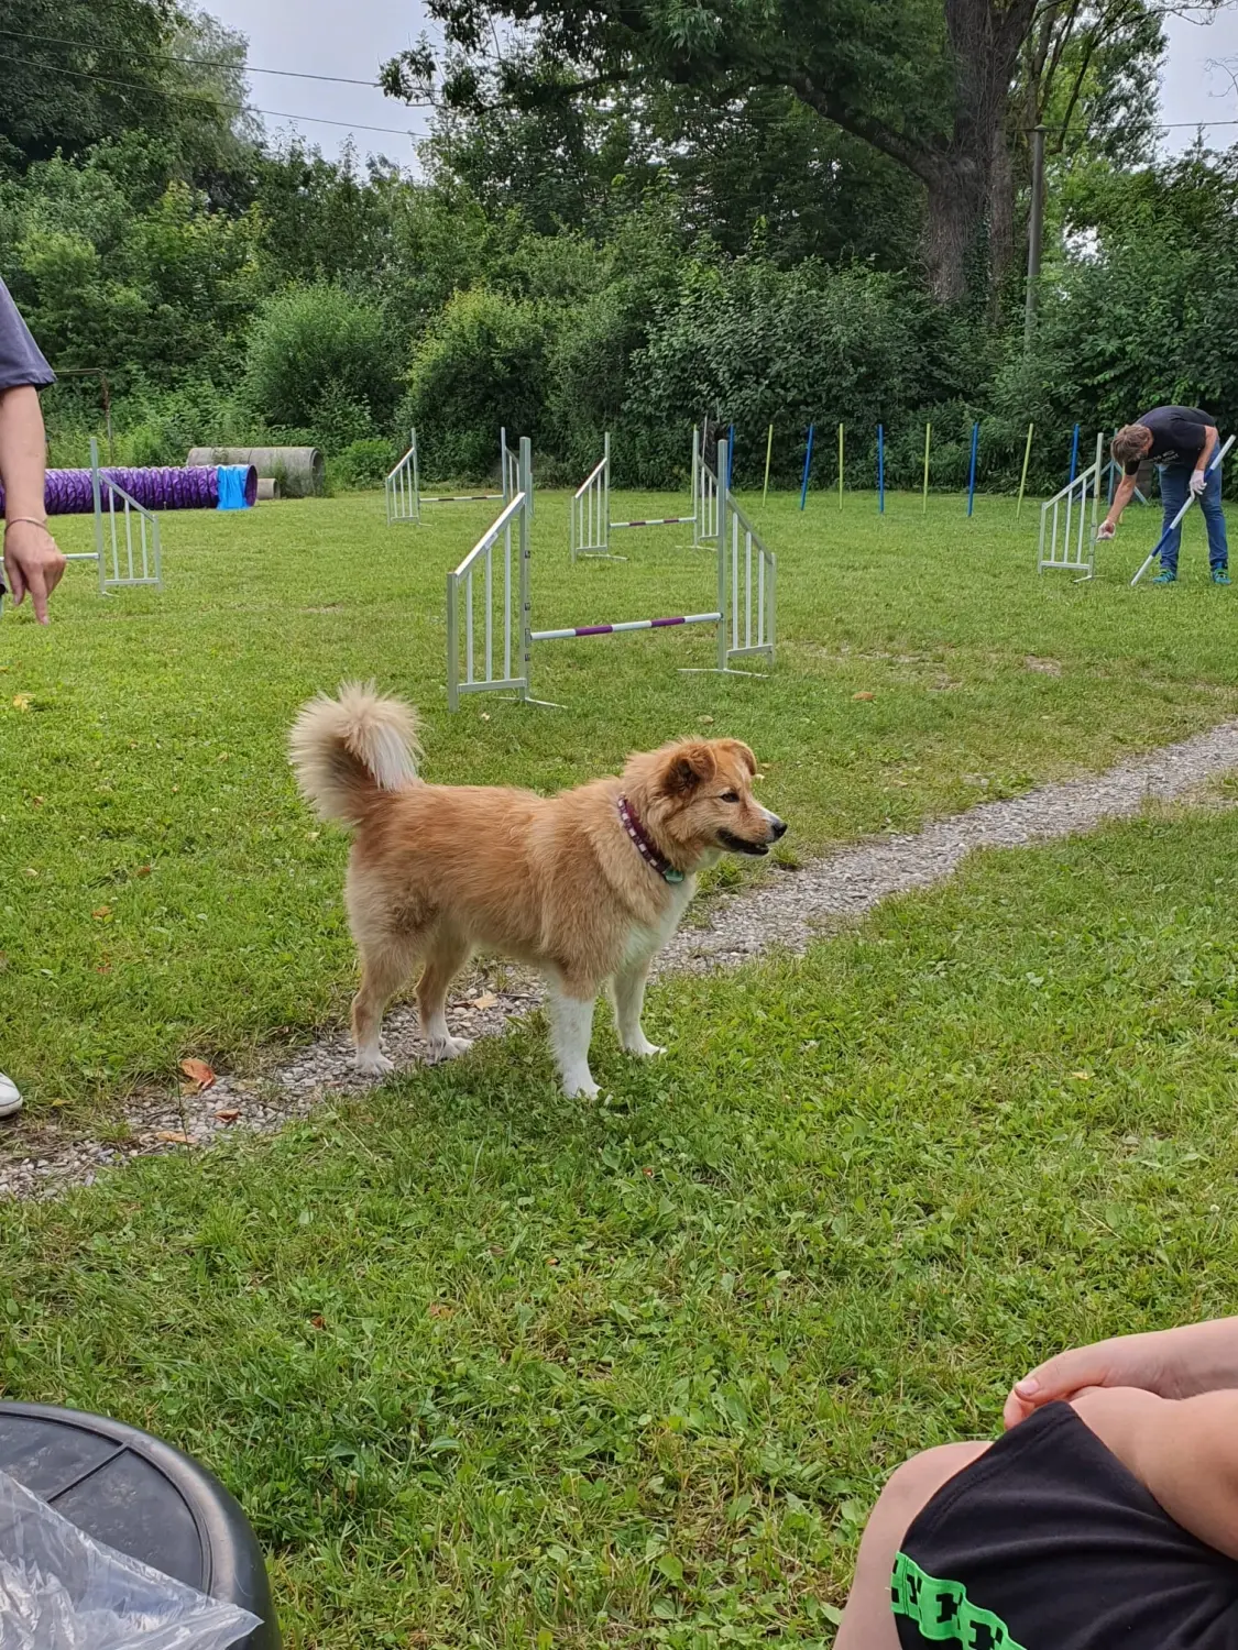
[[[1195,13],[1226,0],[1200,0]],[[446,50],[383,69],[395,96],[523,109],[667,86],[720,107],[777,87],[924,188],[924,261],[943,300],[999,284],[1014,248],[1012,127],[1056,69],[1098,61],[1160,0],[429,0]],[[1028,41],[1048,41],[1028,59]],[[1055,48],[1058,48],[1055,51]],[[1030,82],[1035,81],[1035,86]],[[1028,92],[1018,99],[1020,89]],[[1111,116],[1116,111],[1111,111]]]

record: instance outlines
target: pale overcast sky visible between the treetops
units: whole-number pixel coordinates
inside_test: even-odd
[[[342,74],[371,81],[378,64],[414,43],[424,28],[421,0],[203,0],[205,8],[249,36],[254,69],[299,69],[307,74]],[[1177,122],[1235,120],[1213,127],[1210,142],[1238,142],[1238,94],[1228,74],[1210,71],[1208,59],[1238,63],[1238,0],[1208,26],[1185,18],[1169,20],[1169,61],[1162,81],[1162,116],[1174,122],[1165,148],[1193,142],[1193,125]],[[327,155],[337,155],[348,132],[365,153],[385,153],[403,165],[414,162],[413,140],[426,132],[426,116],[393,102],[376,87],[335,86],[322,81],[284,79],[253,73],[253,101],[266,114],[272,134],[295,130],[312,139]],[[300,119],[287,119],[299,116]],[[319,116],[320,120],[310,120]],[[327,125],[338,120],[340,125]],[[366,132],[363,127],[398,127],[398,132]]]

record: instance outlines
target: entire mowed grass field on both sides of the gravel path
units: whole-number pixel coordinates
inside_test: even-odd
[[[0,1068],[36,1127],[97,1130],[183,1054],[338,1020],[345,840],[297,802],[284,734],[340,678],[419,703],[454,782],[551,789],[738,734],[799,856],[1238,700],[1233,596],[1193,536],[1179,587],[1126,587],[1151,516],[1076,587],[1037,581],[1035,513],[1005,502],[779,498],[768,680],[678,675],[708,634],[553,644],[535,691],[566,710],[449,718],[444,574],[485,510],[168,515],[162,596],[101,601],[76,568],[51,629],[5,615]],[[710,563],[680,544],[573,569],[541,495],[535,622],[700,609]],[[992,1434],[1056,1346],[1231,1310],[1238,871],[1213,804],[1236,794],[977,856],[804,959],[664,980],[667,1059],[622,1061],[602,1025],[598,1104],[556,1092],[530,1021],[274,1138],[0,1204],[0,1394],[211,1465],[292,1650],[824,1650],[911,1449]]]

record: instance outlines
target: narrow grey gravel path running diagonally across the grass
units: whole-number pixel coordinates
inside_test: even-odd
[[[1238,723],[1223,723],[1193,739],[1165,746],[1084,779],[1043,785],[1010,802],[985,802],[938,820],[916,835],[881,837],[840,848],[796,873],[771,876],[758,889],[720,901],[708,926],[680,929],[662,952],[657,974],[702,972],[746,962],[769,947],[804,950],[822,927],[855,921],[881,899],[928,888],[957,870],[972,848],[1018,848],[1096,828],[1106,818],[1137,813],[1147,799],[1172,800],[1203,780],[1238,767]],[[500,978],[512,977],[502,970]],[[464,1036],[499,1036],[512,1016],[533,1010],[541,993],[490,988],[489,975],[449,1010],[452,1030]],[[386,1020],[383,1043],[398,1064],[424,1058],[416,1016],[396,1008]],[[71,1185],[89,1185],[101,1168],[135,1157],[191,1150],[231,1129],[271,1134],[292,1117],[335,1094],[370,1087],[352,1069],[350,1048],[332,1035],[299,1053],[269,1077],[220,1076],[208,1089],[132,1104],[130,1135],[124,1143],[64,1142],[40,1135],[30,1124],[0,1125],[0,1198],[43,1198]]]

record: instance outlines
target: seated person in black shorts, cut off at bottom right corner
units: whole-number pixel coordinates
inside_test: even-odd
[[[900,1467],[835,1650],[1238,1650],[1238,1318],[1061,1353]]]

